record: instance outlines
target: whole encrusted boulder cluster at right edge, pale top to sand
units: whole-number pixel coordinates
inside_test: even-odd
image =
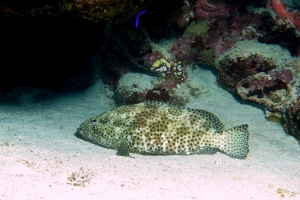
[[[279,45],[240,41],[216,61],[219,80],[243,100],[265,106],[266,118],[299,138],[299,62]],[[291,103],[294,102],[294,103]]]

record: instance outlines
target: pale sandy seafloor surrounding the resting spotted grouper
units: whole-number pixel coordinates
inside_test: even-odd
[[[214,113],[226,128],[249,124],[246,159],[120,157],[75,137],[81,122],[115,106],[97,82],[42,102],[0,105],[0,199],[300,199],[298,142],[258,106],[219,88],[211,71],[193,76],[209,92],[186,107]]]

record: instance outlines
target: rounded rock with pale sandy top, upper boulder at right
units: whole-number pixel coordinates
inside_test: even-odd
[[[220,82],[232,92],[241,80],[259,72],[283,68],[291,59],[289,52],[278,45],[266,45],[255,40],[237,42],[216,60]]]

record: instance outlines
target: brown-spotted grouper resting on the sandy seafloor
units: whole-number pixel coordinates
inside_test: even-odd
[[[84,121],[83,139],[116,149],[117,155],[248,154],[248,125],[224,130],[214,114],[159,102],[124,105]]]

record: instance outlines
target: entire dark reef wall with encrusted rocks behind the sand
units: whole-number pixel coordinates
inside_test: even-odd
[[[101,77],[116,91],[115,97],[121,103],[158,100],[184,105],[191,96],[203,92],[189,83],[191,73],[187,67],[193,62],[201,63],[216,67],[220,84],[243,100],[263,104],[269,120],[283,123],[287,132],[299,138],[300,62],[296,57],[300,56],[300,32],[296,30],[298,27],[292,26],[295,23],[291,25],[287,20],[284,22],[284,17],[278,17],[281,11],[277,10],[276,14],[265,4],[265,1],[250,0],[43,0],[29,5],[12,0],[1,2],[6,10],[2,7],[0,12],[14,17],[23,14],[28,18],[57,17],[57,21],[61,21],[59,17],[70,20],[73,16],[87,19],[76,19],[82,24],[90,23],[83,28],[87,34],[75,35],[76,40],[67,46],[90,49],[85,45],[98,43],[89,52],[94,57],[81,63],[63,63],[61,65],[72,67],[64,70],[57,67],[60,73],[53,70],[52,74],[73,73],[65,79],[51,77],[51,80],[56,80],[52,86],[58,85],[60,91],[85,88]],[[290,1],[285,8],[287,13],[297,11],[295,9],[299,9],[297,1]],[[147,12],[140,18],[139,27],[135,28],[135,16],[141,10]],[[62,28],[65,24],[72,24],[68,20]],[[76,28],[66,35],[59,35],[59,38],[74,36]],[[3,28],[10,29],[9,26]],[[53,38],[53,33],[44,41],[49,38]],[[85,45],[80,45],[80,41]],[[10,46],[15,44],[4,48]],[[15,48],[11,49],[15,52]],[[62,50],[62,54],[69,53],[74,58],[83,54],[70,49],[74,48]],[[13,59],[7,60],[14,62]],[[20,57],[18,60],[25,59]],[[53,62],[52,66],[58,65]],[[26,78],[29,80],[32,76]],[[6,76],[1,75],[0,79],[0,84],[6,85]],[[26,99],[30,100],[24,95],[23,100]]]

